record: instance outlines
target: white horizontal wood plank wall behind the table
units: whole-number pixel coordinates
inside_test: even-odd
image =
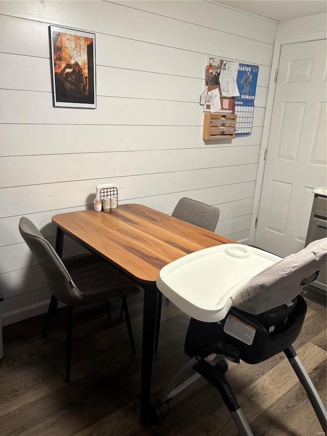
[[[4,324],[44,312],[49,290],[22,241],[28,216],[92,207],[98,183],[120,204],[171,214],[182,196],[214,204],[217,233],[247,241],[276,24],[202,1],[1,2],[0,286]],[[53,108],[49,25],[96,33],[97,109]],[[207,55],[260,66],[253,133],[205,144]],[[81,253],[67,241],[64,255]]]

